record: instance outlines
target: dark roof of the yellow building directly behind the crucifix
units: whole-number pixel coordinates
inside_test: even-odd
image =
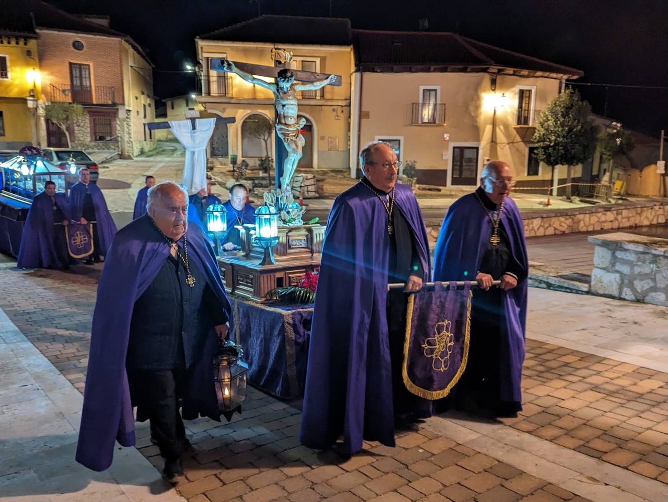
[[[235,42],[351,45],[351,28],[349,19],[262,15],[199,35],[197,38]]]

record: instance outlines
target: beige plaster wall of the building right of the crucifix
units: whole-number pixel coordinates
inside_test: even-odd
[[[486,73],[364,73],[361,111],[368,112],[369,118],[360,121],[360,148],[377,136],[403,137],[403,161],[417,161],[419,170],[445,170],[450,166],[453,146],[478,143],[479,172],[485,159],[500,159],[514,167],[516,179],[525,181],[524,185],[542,185],[552,173],[546,165],[541,165],[539,175],[526,175],[534,128],[514,127],[518,85],[536,87],[534,109],[539,111],[558,95],[559,83],[554,79],[499,75],[496,95],[505,94],[506,104],[496,107],[495,115],[495,92]],[[446,105],[444,125],[411,125],[411,106],[420,102],[420,86],[440,87],[439,102]],[[444,134],[450,135],[449,141],[444,141]],[[573,176],[579,176],[580,171],[574,168]],[[566,177],[566,167],[560,168],[559,176]],[[445,179],[442,181],[439,184],[445,185]]]

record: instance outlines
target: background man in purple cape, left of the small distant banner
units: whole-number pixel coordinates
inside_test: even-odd
[[[64,193],[55,193],[55,183],[44,183],[44,191],[33,199],[21,235],[17,267],[20,269],[67,269],[69,255],[65,227],[69,205]]]

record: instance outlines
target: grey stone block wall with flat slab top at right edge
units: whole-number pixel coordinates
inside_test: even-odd
[[[668,239],[611,233],[589,242],[596,245],[591,293],[668,306]]]

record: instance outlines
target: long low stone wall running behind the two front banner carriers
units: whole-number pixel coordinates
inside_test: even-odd
[[[574,209],[522,211],[526,237],[657,225],[668,221],[668,201],[625,201]],[[429,241],[436,243],[441,220],[426,220]]]

